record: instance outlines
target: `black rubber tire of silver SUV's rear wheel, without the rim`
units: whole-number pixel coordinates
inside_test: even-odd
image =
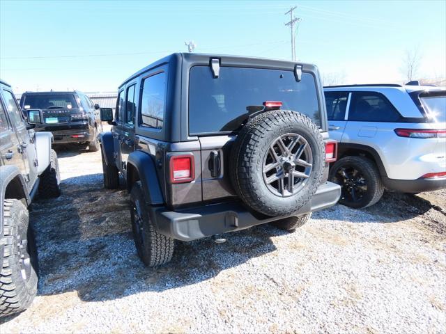
[[[346,183],[344,180],[340,180],[340,177],[337,174],[341,168],[355,168],[364,175],[364,180],[367,182],[367,191],[360,200],[348,200]],[[384,193],[384,185],[383,182],[381,182],[378,168],[376,168],[373,161],[366,157],[352,156],[339,159],[330,167],[328,180],[341,186],[341,198],[339,199],[339,204],[353,207],[355,209],[374,205],[380,200]]]

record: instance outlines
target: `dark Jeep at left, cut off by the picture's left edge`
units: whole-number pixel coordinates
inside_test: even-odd
[[[26,120],[28,118],[28,120]],[[52,134],[34,132],[42,111],[26,117],[11,87],[0,81],[0,317],[20,312],[37,292],[37,250],[28,207],[61,194]]]

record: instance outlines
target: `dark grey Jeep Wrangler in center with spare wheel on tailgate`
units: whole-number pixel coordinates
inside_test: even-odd
[[[171,259],[174,239],[295,230],[341,193],[314,65],[172,54],[124,81],[101,119],[114,125],[100,135],[104,184],[123,175],[148,266]]]

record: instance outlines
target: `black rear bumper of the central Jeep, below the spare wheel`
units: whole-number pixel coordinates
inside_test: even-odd
[[[341,187],[339,185],[332,182],[321,184],[312,200],[293,216],[331,207],[337,203],[340,196]],[[285,218],[284,216],[270,217],[250,212],[240,202],[225,202],[176,212],[169,211],[165,207],[153,207],[151,217],[160,233],[183,241],[244,230],[254,225]]]

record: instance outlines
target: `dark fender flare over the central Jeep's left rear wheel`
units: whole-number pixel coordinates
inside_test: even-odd
[[[130,166],[132,166],[132,168],[130,168]],[[133,168],[139,174],[139,180],[141,180],[144,195],[146,196],[148,204],[164,204],[164,198],[162,197],[160,182],[157,178],[153,157],[142,151],[134,151],[129,154],[127,159],[127,190],[129,193],[132,191],[131,187],[134,176],[132,175]]]

